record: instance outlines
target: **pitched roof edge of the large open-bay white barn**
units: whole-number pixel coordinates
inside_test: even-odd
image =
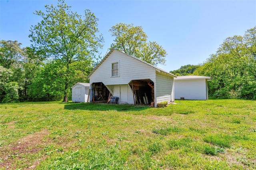
[[[94,69],[90,72],[90,74],[86,77],[87,79],[89,79],[90,78],[90,76],[94,73],[94,71],[96,71],[96,69],[98,69],[98,67],[100,67],[100,65],[108,58],[108,56],[113,52],[113,51],[118,51],[118,52],[120,52],[120,53],[124,53],[124,52],[122,52],[122,51],[119,51],[119,50],[117,50],[117,49],[111,49],[108,53],[107,53],[107,55],[100,61],[100,63],[98,63],[98,65],[96,65],[96,67],[94,67]],[[141,60],[141,59],[138,59],[137,57],[134,57],[134,56],[132,56],[132,55],[129,55],[129,54],[126,54],[126,53],[124,53],[125,55],[127,55],[127,56],[130,56],[130,57],[132,57],[132,58],[134,58],[134,59],[137,59],[138,61],[140,61],[140,62],[142,62],[142,63],[145,63],[145,64],[147,64],[147,65],[150,65],[151,67],[154,67],[157,71],[163,71],[164,73],[167,73],[168,75],[171,75],[172,77],[177,77],[176,75],[174,75],[174,74],[172,74],[172,73],[169,73],[168,71],[165,71],[165,70],[163,70],[163,69],[160,69],[160,68],[158,68],[158,67],[155,67],[154,65],[151,65],[151,64],[149,64],[149,63],[147,63],[147,62],[145,62],[145,61],[143,61],[143,60]]]

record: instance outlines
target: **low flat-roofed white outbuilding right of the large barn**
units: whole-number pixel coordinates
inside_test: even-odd
[[[174,96],[175,99],[187,100],[207,100],[208,99],[208,81],[211,77],[185,75],[174,78]]]

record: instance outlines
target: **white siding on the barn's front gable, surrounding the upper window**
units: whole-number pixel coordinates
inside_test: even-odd
[[[119,62],[118,77],[111,77],[111,64]],[[119,51],[113,51],[92,73],[90,84],[102,82],[104,85],[128,84],[131,80],[151,79],[155,81],[155,68]]]

